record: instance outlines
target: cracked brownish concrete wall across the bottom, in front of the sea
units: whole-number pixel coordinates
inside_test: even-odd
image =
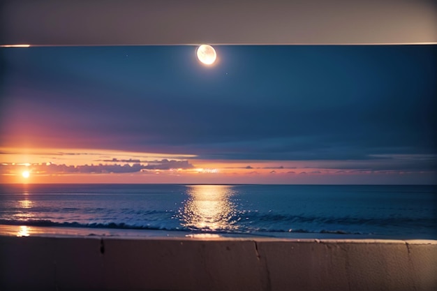
[[[437,290],[437,241],[0,237],[0,290]]]

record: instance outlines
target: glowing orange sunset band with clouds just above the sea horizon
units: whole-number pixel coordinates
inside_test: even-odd
[[[83,149],[2,152],[2,183],[334,184],[342,179],[390,181],[412,174],[366,170],[371,163],[365,162],[364,170],[339,170],[359,161],[205,161],[184,154]]]

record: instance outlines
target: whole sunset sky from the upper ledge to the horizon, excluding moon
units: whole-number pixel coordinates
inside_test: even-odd
[[[214,48],[0,48],[0,182],[436,184],[436,45]]]

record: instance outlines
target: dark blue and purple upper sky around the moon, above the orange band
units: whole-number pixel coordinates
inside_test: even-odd
[[[436,45],[2,48],[1,143],[436,170]]]

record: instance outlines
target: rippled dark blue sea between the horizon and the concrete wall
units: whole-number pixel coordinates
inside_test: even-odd
[[[436,186],[3,185],[0,224],[437,239]]]

